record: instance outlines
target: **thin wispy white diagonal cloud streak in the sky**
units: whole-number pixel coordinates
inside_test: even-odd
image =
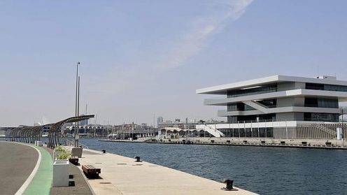
[[[146,75],[155,75],[186,65],[192,57],[199,55],[213,36],[220,33],[230,22],[239,19],[252,1],[229,0],[208,4],[208,7],[211,7],[208,13],[194,18],[190,22],[190,28],[186,29],[178,40],[162,46],[169,48],[167,52],[150,51],[143,55],[146,59],[136,57],[134,62],[125,66],[115,66],[113,71],[108,71],[108,75],[95,79],[99,83],[94,83],[97,85],[92,88],[99,92],[117,93],[148,79]]]

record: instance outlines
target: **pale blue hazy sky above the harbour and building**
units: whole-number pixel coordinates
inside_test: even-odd
[[[347,1],[0,1],[0,127],[225,120],[195,90],[269,75],[347,80]],[[44,120],[43,120],[44,119]],[[95,119],[91,121],[95,122]]]

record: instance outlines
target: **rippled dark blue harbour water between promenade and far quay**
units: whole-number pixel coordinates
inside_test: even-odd
[[[44,141],[44,140],[43,140]],[[347,194],[347,151],[220,145],[108,143],[81,139],[93,150],[140,156],[259,194]]]

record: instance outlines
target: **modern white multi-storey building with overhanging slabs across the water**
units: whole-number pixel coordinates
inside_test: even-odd
[[[227,123],[207,125],[221,136],[340,138],[339,103],[347,101],[347,81],[273,75],[197,89],[197,94],[222,96],[204,100],[207,106],[226,108],[218,116],[227,117]]]

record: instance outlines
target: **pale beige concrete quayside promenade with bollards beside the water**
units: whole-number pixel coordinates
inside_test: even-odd
[[[88,180],[95,194],[254,194],[223,191],[221,182],[95,150],[83,149],[80,164],[101,168],[99,179]]]

